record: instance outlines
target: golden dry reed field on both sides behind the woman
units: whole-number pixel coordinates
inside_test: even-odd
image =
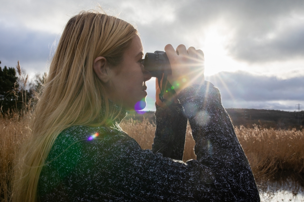
[[[0,201],[8,201],[14,158],[28,128],[19,116],[0,115]],[[151,149],[155,125],[148,120],[123,120],[121,128],[134,138],[142,149]],[[279,170],[304,173],[304,129],[274,130],[255,125],[235,127],[256,181],[267,180]],[[194,140],[188,124],[183,161],[195,159]]]

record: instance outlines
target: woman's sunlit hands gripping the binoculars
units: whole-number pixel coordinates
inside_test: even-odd
[[[168,44],[165,46],[165,51],[172,69],[172,75],[168,75],[167,80],[171,83],[172,88],[174,88],[177,94],[192,84],[204,84],[205,59],[203,51],[195,50],[194,47],[189,47],[187,50],[186,46],[182,44],[177,46],[176,51],[171,44]],[[157,78],[155,88],[156,104],[162,108],[166,108],[166,104],[159,99],[160,88]],[[177,102],[177,98],[170,91],[166,92],[166,90],[164,98],[167,100],[174,98],[175,102]]]

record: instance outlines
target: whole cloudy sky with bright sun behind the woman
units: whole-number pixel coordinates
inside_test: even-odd
[[[19,60],[30,77],[47,72],[67,21],[98,5],[136,26],[145,52],[166,44],[204,51],[205,80],[225,108],[304,105],[304,0],[2,0],[1,66]],[[144,110],[155,110],[155,79],[147,86]]]

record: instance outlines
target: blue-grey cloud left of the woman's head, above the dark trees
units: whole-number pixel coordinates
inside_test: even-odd
[[[21,63],[46,64],[56,35],[0,24],[0,39],[0,60],[3,65],[15,66],[18,60]]]

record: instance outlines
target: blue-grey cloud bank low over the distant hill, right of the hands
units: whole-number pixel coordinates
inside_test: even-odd
[[[238,71],[219,72],[205,80],[219,88],[225,107],[291,110],[304,101],[303,76],[279,79]]]

